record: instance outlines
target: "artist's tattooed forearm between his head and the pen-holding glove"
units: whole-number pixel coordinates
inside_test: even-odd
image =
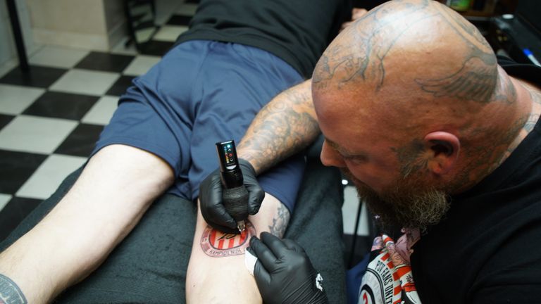
[[[237,147],[259,174],[302,151],[319,134],[311,81],[278,94],[261,109]]]

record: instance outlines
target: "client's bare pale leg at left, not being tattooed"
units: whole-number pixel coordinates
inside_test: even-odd
[[[0,274],[28,303],[49,302],[95,270],[172,182],[170,166],[154,154],[102,148],[58,205],[1,253]]]

